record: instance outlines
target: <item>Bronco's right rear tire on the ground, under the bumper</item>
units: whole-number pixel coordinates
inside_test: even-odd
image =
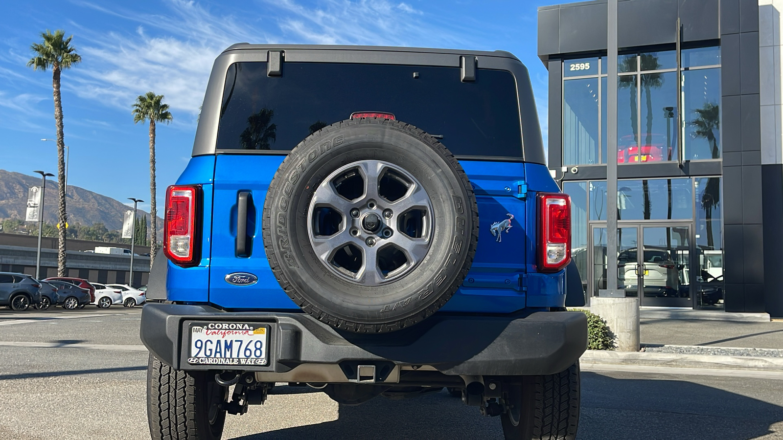
[[[579,427],[579,362],[557,374],[523,376],[503,384],[507,409],[500,417],[506,440],[574,440]],[[514,420],[517,419],[517,420]]]

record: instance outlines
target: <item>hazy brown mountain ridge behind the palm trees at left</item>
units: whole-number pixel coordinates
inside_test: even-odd
[[[44,221],[52,224],[57,223],[57,185],[55,180],[46,181]],[[0,170],[0,219],[24,219],[27,189],[30,186],[41,186],[41,178]],[[128,206],[121,201],[73,185],[67,187],[66,197],[68,223],[92,226],[101,222],[106,225],[106,229],[122,228],[124,212],[128,210]],[[147,218],[150,216],[148,212],[140,209],[137,215],[146,215]],[[163,219],[158,217],[157,221],[158,230],[161,230]]]

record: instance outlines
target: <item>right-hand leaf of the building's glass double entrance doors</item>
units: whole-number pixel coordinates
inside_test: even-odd
[[[691,228],[651,225],[641,228],[643,252],[637,272],[641,305],[693,307],[691,299]]]

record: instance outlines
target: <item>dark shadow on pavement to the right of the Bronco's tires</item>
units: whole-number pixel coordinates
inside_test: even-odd
[[[716,379],[727,385],[737,380]],[[749,440],[770,434],[770,426],[783,421],[781,406],[685,380],[617,379],[585,372],[582,380],[577,437],[582,440]],[[757,388],[734,387],[751,393],[773,384],[783,390],[779,380],[743,381]]]

